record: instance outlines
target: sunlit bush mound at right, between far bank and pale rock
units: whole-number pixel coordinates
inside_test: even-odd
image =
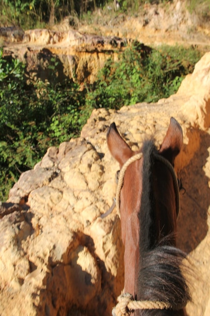
[[[90,88],[89,107],[120,109],[123,105],[168,97],[177,91],[200,58],[196,50],[183,47],[162,46],[148,54],[144,49],[127,48],[118,62],[106,62]]]

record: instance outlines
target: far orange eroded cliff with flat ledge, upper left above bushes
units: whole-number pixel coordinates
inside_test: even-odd
[[[3,28],[0,38],[4,40],[4,55],[25,63],[32,80],[57,78],[61,81],[68,77],[77,78],[79,83],[93,83],[105,61],[110,57],[117,60],[124,47],[132,42],[126,38],[89,35],[69,28],[65,31],[35,29],[25,32]]]

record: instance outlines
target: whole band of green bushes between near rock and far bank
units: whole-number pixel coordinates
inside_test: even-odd
[[[3,57],[0,49],[0,200],[49,146],[78,136],[94,108],[119,109],[168,97],[199,58],[193,49],[150,50],[136,44],[125,49],[117,63],[109,59],[98,80],[81,91],[68,79],[27,84],[25,66]],[[56,66],[51,58],[47,73],[53,74]]]

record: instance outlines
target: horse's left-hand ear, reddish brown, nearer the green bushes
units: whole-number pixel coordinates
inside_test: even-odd
[[[115,123],[112,123],[106,135],[107,145],[120,167],[133,155],[133,151],[120,136]]]

